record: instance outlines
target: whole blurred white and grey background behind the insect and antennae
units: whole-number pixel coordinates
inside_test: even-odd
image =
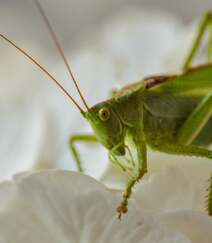
[[[40,3],[89,104],[108,97],[117,83],[176,70],[193,38],[188,26],[212,8],[211,0]],[[0,32],[38,58],[77,97],[71,82],[64,82],[69,77],[32,0],[0,0]],[[29,169],[76,169],[68,138],[90,128],[46,79],[0,40],[0,180]],[[105,151],[98,146],[93,156],[90,148],[80,150],[84,160],[91,160],[88,173],[99,177],[107,166]]]

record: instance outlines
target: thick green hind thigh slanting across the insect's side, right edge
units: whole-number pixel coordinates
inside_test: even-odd
[[[206,95],[177,134],[177,143],[189,145],[212,117],[212,91]]]

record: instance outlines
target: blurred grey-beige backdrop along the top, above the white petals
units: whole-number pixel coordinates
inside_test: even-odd
[[[189,22],[212,8],[211,0],[40,0],[57,30],[64,47],[86,42],[93,30],[122,8],[158,9]],[[31,0],[0,0],[0,28],[16,39],[42,42],[50,48],[45,28]]]

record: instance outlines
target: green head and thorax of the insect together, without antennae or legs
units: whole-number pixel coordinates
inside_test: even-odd
[[[97,140],[107,149],[117,148],[119,154],[124,154],[126,133],[135,131],[142,125],[142,92],[143,84],[124,93],[122,90],[113,98],[96,104],[85,113]],[[109,117],[107,114],[101,117],[101,112],[104,111],[109,113]]]

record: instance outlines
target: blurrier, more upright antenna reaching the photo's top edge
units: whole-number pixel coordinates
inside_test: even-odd
[[[54,43],[55,43],[55,45],[56,45],[56,47],[58,49],[58,52],[59,52],[60,56],[62,57],[62,59],[64,61],[64,64],[65,64],[65,66],[66,66],[66,68],[67,68],[67,70],[69,72],[69,75],[70,75],[71,79],[73,80],[73,83],[74,83],[74,85],[75,85],[75,87],[77,89],[77,92],[78,92],[78,94],[79,94],[79,96],[80,96],[83,104],[85,105],[86,109],[89,110],[89,107],[88,107],[88,105],[87,105],[87,103],[86,103],[86,101],[85,101],[85,99],[84,99],[84,97],[83,97],[83,95],[82,95],[82,93],[81,93],[81,91],[79,89],[79,86],[77,84],[77,81],[76,81],[76,79],[75,79],[75,77],[73,75],[73,72],[71,70],[71,67],[68,64],[68,61],[67,61],[67,59],[65,57],[65,54],[63,52],[63,49],[62,49],[62,47],[61,47],[61,45],[60,45],[60,43],[58,41],[58,38],[57,38],[57,36],[56,36],[56,34],[55,34],[52,26],[50,25],[50,22],[49,22],[49,20],[48,20],[48,18],[46,16],[46,14],[45,14],[45,12],[44,12],[41,4],[40,4],[40,2],[38,0],[34,0],[34,2],[35,2],[36,6],[37,6],[37,8],[38,8],[38,10],[40,12],[41,17],[44,20],[44,23],[46,24],[47,30],[48,30],[49,34],[51,35],[51,37],[52,37],[52,39],[53,39],[53,41],[54,41]]]

